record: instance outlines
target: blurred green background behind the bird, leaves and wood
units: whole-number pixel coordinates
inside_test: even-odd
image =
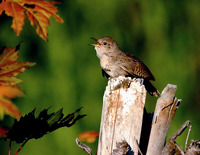
[[[17,37],[10,28],[12,18],[0,16],[0,46],[20,41],[21,61],[37,62],[20,78],[25,97],[15,100],[23,114],[51,106],[64,113],[79,107],[87,117],[70,128],[61,128],[38,140],[30,140],[21,155],[84,154],[75,144],[78,132],[99,130],[102,99],[107,79],[101,76],[99,60],[90,37],[113,37],[124,51],[133,53],[150,68],[162,91],[178,86],[182,99],[170,126],[171,136],[186,121],[192,122],[189,139],[199,140],[200,123],[200,1],[67,0],[57,5],[64,24],[51,18],[48,42],[42,40],[26,19]],[[153,112],[156,98],[147,96],[147,111]],[[6,116],[4,124],[12,119]],[[2,122],[1,122],[2,124]],[[184,147],[187,131],[177,139]],[[96,152],[97,141],[88,144]],[[12,145],[12,153],[19,145]],[[8,142],[0,141],[0,155],[8,153]]]

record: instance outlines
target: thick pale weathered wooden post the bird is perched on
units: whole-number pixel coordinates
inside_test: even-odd
[[[127,142],[138,153],[146,90],[140,79],[112,78],[104,97],[98,155],[110,155],[117,143]]]

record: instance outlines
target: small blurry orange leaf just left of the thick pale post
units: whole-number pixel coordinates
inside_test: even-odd
[[[86,131],[86,132],[81,132],[78,134],[79,134],[78,139],[80,141],[87,141],[88,143],[93,143],[96,140],[96,138],[99,136],[99,133],[96,131]]]

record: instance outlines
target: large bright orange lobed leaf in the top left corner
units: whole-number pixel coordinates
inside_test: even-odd
[[[13,17],[11,27],[19,36],[26,18],[24,12],[26,12],[31,25],[37,25],[37,34],[47,41],[49,18],[52,16],[56,21],[63,23],[63,19],[57,14],[58,10],[53,4],[59,3],[47,0],[4,0],[0,4],[0,15],[5,11],[6,15]]]

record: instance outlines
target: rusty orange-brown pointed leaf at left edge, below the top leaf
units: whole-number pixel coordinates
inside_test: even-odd
[[[17,62],[18,50],[20,44],[16,47],[8,47],[0,49],[0,85],[16,85],[22,82],[16,76],[25,71],[26,68],[34,66],[36,63]]]

